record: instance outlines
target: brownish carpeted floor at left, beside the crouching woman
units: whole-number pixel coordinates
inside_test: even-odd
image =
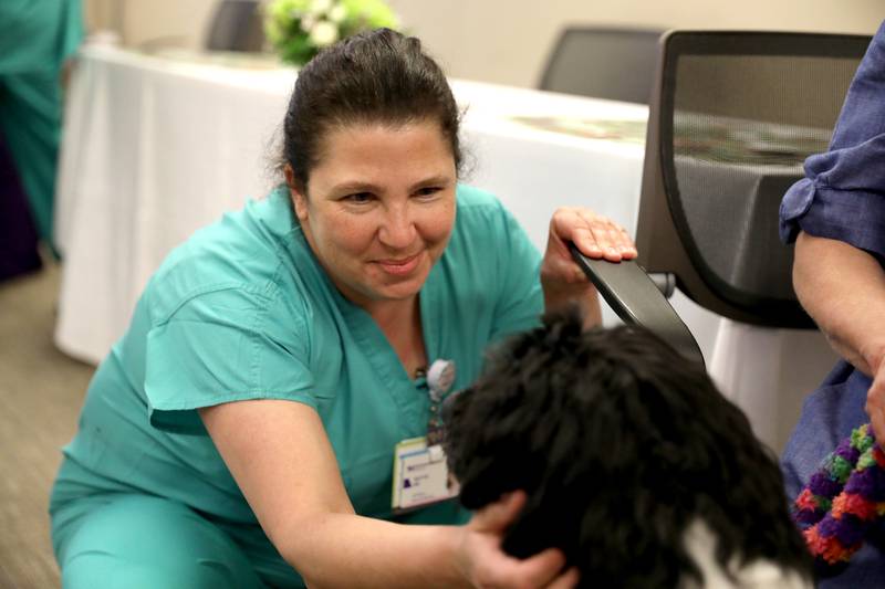
[[[52,345],[59,269],[0,283],[0,589],[59,587],[46,504],[94,367]]]

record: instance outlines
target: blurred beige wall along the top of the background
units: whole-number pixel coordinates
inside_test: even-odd
[[[455,77],[533,86],[571,23],[872,34],[883,0],[389,0]],[[126,44],[199,46],[215,0],[84,0],[93,25],[122,21]],[[122,10],[121,10],[122,7]]]

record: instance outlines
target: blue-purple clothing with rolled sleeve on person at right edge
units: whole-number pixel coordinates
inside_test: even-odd
[[[800,231],[837,239],[885,261],[885,22],[848,88],[830,150],[805,160],[806,178],[781,202],[781,239]],[[864,412],[870,377],[840,361],[805,400],[781,467],[792,499],[821,461],[851,431],[870,421]],[[885,587],[885,527],[876,528],[847,568],[820,587]]]

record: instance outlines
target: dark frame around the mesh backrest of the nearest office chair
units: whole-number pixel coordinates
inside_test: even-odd
[[[648,272],[674,273],[677,286],[691,299],[732,319],[773,327],[815,327],[794,294],[787,298],[759,297],[733,288],[711,270],[695,241],[687,238],[691,230],[679,198],[674,165],[677,65],[685,55],[823,56],[822,48],[827,57],[856,59],[860,63],[870,39],[742,31],[671,31],[662,36],[636,232],[639,263]]]

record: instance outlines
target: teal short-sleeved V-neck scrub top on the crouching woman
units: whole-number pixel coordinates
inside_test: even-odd
[[[489,344],[539,324],[540,263],[497,199],[458,187],[451,239],[419,296],[428,360],[455,361],[452,390],[479,376]],[[394,445],[426,433],[426,386],[334,287],[284,188],[195,233],[150,280],[90,385],[52,511],[106,491],[168,497],[223,527],[253,560],[285,566],[195,411],[242,399],[314,408],[356,513],[467,519],[454,501],[392,515]],[[53,538],[64,541],[55,518]]]

